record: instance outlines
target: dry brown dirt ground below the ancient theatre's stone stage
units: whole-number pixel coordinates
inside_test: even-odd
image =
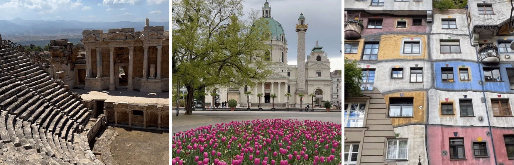
[[[104,127],[105,128],[105,127]],[[109,126],[105,132],[114,131],[111,140],[113,164],[169,164],[170,133]],[[102,130],[99,131],[102,133]]]

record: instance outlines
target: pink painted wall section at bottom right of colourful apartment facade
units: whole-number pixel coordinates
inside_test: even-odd
[[[494,147],[498,163],[503,162],[505,165],[512,164],[512,160],[507,158],[505,150],[505,142],[503,135],[511,135],[514,133],[512,129],[492,128],[494,137]],[[430,164],[452,164],[452,165],[475,165],[475,164],[494,164],[494,155],[492,152],[491,137],[486,135],[489,128],[486,127],[444,127],[444,126],[428,126],[427,142],[428,142],[428,159]],[[466,160],[450,160],[449,138],[455,137],[453,132],[457,132],[457,137],[464,138],[464,152]],[[476,138],[482,137],[482,141],[487,142],[487,152],[489,157],[475,157],[473,154],[473,142],[478,141]],[[443,150],[448,152],[443,155]]]

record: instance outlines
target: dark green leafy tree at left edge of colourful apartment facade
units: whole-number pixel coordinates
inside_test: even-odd
[[[362,69],[357,60],[350,60],[344,57],[344,97],[360,95],[360,80]]]

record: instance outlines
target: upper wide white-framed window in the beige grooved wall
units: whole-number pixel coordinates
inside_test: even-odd
[[[363,103],[344,104],[344,127],[362,127],[365,110]]]

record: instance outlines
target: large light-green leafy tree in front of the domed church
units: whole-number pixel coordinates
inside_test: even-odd
[[[258,12],[243,16],[242,0],[174,0],[173,81],[195,90],[255,85],[271,74],[264,54],[270,47],[266,21]],[[185,114],[192,114],[186,107]]]

